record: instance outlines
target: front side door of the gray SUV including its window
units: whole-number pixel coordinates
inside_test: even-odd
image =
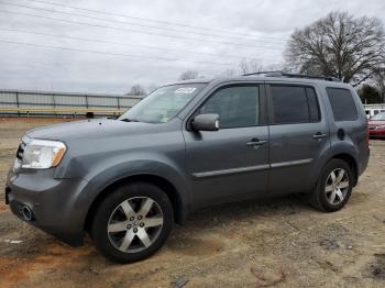
[[[219,114],[219,131],[184,131],[193,206],[263,196],[268,180],[264,87],[220,87],[195,114]]]

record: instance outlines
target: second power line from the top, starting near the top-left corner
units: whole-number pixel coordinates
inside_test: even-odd
[[[160,26],[154,26],[154,25],[140,24],[140,23],[128,22],[128,21],[120,21],[120,20],[114,20],[114,19],[90,16],[90,15],[85,15],[85,14],[78,14],[78,13],[65,12],[65,11],[57,11],[57,10],[53,10],[53,9],[37,8],[37,7],[24,5],[24,4],[18,4],[18,3],[2,2],[1,4],[11,5],[11,7],[21,7],[21,8],[28,8],[28,9],[34,9],[34,10],[38,10],[38,11],[61,13],[61,14],[66,14],[66,15],[82,16],[82,18],[88,18],[88,19],[92,19],[92,20],[101,20],[101,21],[109,21],[109,22],[116,22],[116,23],[121,23],[121,24],[130,24],[130,25],[135,25],[135,26],[141,26],[141,27],[166,30],[166,31],[177,32],[177,33],[189,33],[189,34],[195,34],[195,35],[204,35],[204,36],[211,36],[211,37],[219,37],[219,38],[230,38],[230,40],[241,40],[241,41],[245,40],[245,38],[235,37],[235,36],[216,35],[216,34],[194,32],[194,31],[188,31],[187,32],[187,31],[183,31],[183,30],[175,30],[175,29],[169,29],[169,27],[160,27]],[[257,41],[257,40],[254,40],[254,41]],[[272,41],[263,41],[263,42],[264,43],[279,45],[279,43],[277,43],[277,42],[284,43],[285,41],[284,40],[275,40],[275,42],[272,42]]]

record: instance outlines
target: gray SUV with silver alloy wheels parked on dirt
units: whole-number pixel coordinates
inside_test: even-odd
[[[340,210],[369,162],[355,90],[284,73],[164,86],[119,119],[28,132],[6,201],[20,219],[108,258],[154,254],[197,208],[293,192]]]

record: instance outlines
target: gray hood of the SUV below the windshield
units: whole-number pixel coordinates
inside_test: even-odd
[[[122,133],[148,133],[156,124],[123,122],[112,119],[84,120],[37,128],[26,132],[31,139],[69,141],[75,139],[103,139]]]

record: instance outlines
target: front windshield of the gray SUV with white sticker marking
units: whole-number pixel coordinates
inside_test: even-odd
[[[156,89],[119,120],[148,123],[166,123],[205,87],[205,84],[182,84]]]

